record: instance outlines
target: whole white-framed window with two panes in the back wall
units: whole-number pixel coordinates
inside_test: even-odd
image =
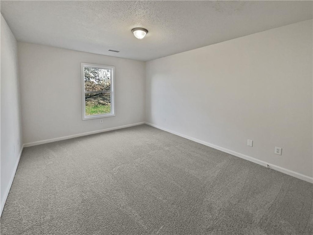
[[[115,116],[114,67],[82,63],[83,120]]]

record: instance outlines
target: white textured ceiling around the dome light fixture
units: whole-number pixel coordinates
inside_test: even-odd
[[[3,1],[18,41],[148,61],[312,19],[312,1]],[[138,40],[134,27],[149,30]],[[119,53],[108,51],[119,50]]]

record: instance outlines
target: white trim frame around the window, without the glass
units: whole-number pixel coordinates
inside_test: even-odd
[[[110,79],[111,79],[111,113],[110,114],[98,114],[98,115],[89,115],[86,116],[86,105],[85,105],[85,67],[93,67],[98,69],[111,70]],[[81,80],[82,80],[82,114],[83,120],[96,119],[96,118],[109,118],[115,116],[115,67],[108,65],[97,65],[97,64],[88,64],[81,63]]]

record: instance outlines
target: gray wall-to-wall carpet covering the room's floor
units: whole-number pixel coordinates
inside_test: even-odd
[[[1,235],[312,235],[313,186],[141,125],[25,148]]]

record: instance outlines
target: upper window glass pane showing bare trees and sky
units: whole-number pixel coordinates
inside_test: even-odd
[[[85,91],[111,91],[111,71],[92,67],[84,67]]]

